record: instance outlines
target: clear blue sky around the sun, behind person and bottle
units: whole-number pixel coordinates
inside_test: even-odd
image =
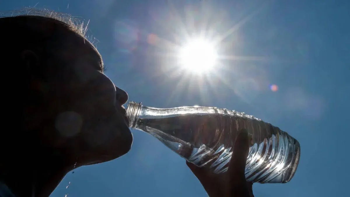
[[[1,1],[0,8],[37,3]],[[348,193],[349,2],[41,0],[37,7],[90,20],[87,33],[98,39],[106,74],[130,100],[159,108],[201,105],[244,111],[295,137],[301,159],[292,181],[255,184],[255,196]],[[208,39],[224,38],[217,46],[225,58],[202,77],[179,71],[170,47],[198,32]],[[278,90],[272,91],[271,84]],[[127,155],[76,169],[51,196],[206,195],[180,156],[152,136],[132,132],[134,144]]]

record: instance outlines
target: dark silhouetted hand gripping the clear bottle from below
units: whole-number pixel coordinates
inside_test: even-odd
[[[247,182],[245,179],[248,152],[248,133],[243,130],[236,138],[227,172],[214,174],[208,166],[199,168],[187,161],[186,164],[202,183],[210,197],[254,197],[253,183]]]

